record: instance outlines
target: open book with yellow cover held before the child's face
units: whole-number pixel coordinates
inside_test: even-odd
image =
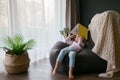
[[[79,23],[72,29],[71,33],[74,35],[78,34],[79,36],[82,36],[86,40],[88,39],[88,29]]]

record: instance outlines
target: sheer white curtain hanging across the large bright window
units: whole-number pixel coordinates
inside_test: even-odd
[[[20,33],[25,40],[35,39],[35,47],[28,51],[32,62],[49,57],[52,46],[63,38],[59,30],[65,27],[66,0],[0,1],[7,6],[3,7],[7,9],[4,11],[7,14],[4,26],[1,25],[4,19],[0,19],[0,35]],[[2,30],[3,27],[5,31]],[[0,36],[2,37],[3,35]]]

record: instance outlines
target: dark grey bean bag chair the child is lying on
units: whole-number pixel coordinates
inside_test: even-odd
[[[58,41],[52,47],[49,57],[52,68],[54,68],[55,66],[55,62],[60,50],[67,46],[68,45],[66,43]],[[94,43],[89,33],[88,40],[86,41],[86,47],[76,55],[74,74],[100,73],[106,71],[107,62],[91,51],[93,46]],[[68,74],[69,70],[68,64],[69,57],[68,55],[66,55],[58,69],[58,72]]]

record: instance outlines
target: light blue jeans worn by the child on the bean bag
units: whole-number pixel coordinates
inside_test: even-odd
[[[64,56],[68,53],[68,56],[69,56],[69,67],[74,67],[75,65],[75,56],[76,56],[76,52],[74,51],[73,48],[71,47],[66,47],[66,48],[63,48],[58,57],[57,57],[57,61],[58,62],[61,62],[64,58]]]

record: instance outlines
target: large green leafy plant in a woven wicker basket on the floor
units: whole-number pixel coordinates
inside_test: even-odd
[[[4,66],[8,73],[17,74],[27,71],[30,59],[27,50],[32,49],[35,44],[33,39],[24,41],[23,36],[16,34],[4,39],[2,47],[5,51]]]

